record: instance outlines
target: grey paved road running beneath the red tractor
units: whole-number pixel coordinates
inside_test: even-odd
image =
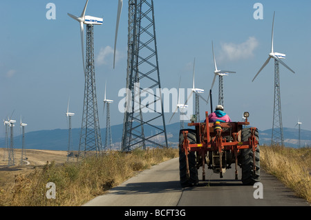
[[[241,170],[239,174],[241,178]],[[223,179],[207,170],[206,181],[200,181],[197,187],[181,188],[176,158],[140,172],[84,206],[310,206],[263,170],[261,183],[263,199],[254,199],[258,188],[234,180],[233,166]]]

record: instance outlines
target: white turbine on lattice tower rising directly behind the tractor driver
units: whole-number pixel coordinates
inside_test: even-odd
[[[223,103],[223,77],[224,76],[228,76],[229,73],[236,73],[234,71],[231,70],[218,70],[217,65],[216,65],[216,59],[215,59],[215,54],[214,54],[214,43],[213,41],[211,41],[211,50],[213,52],[213,58],[214,58],[214,79],[213,82],[211,83],[211,90],[214,87],[214,83],[216,81],[216,77],[219,77],[219,88],[218,88],[218,105],[224,106]],[[209,93],[209,97],[210,97],[211,93]],[[209,97],[207,98],[207,101],[209,101]]]

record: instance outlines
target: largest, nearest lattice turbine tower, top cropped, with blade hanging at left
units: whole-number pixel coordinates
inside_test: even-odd
[[[123,1],[119,0],[115,50],[122,6]],[[122,151],[131,151],[137,147],[146,149],[147,143],[150,146],[167,147],[162,92],[154,94],[152,90],[161,90],[153,0],[129,0],[128,30],[126,89],[129,92],[126,96],[121,149]],[[115,66],[115,57],[113,63]],[[141,94],[148,94],[154,97],[155,101],[142,105]],[[156,110],[152,108],[155,106],[154,103],[157,104]],[[146,129],[158,130],[157,135],[164,136],[164,143],[156,143],[152,140],[153,137],[145,137]]]

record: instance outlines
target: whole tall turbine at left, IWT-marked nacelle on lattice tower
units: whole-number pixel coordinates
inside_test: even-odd
[[[79,22],[82,59],[84,66],[84,107],[82,112],[82,126],[79,140],[79,157],[85,157],[86,154],[99,154],[102,152],[102,137],[100,135],[100,121],[98,118],[97,97],[95,86],[95,66],[94,66],[94,38],[93,26],[102,25],[103,19],[86,16],[86,7],[80,17],[73,14],[68,15]],[[86,24],[86,61],[84,61],[84,24]]]

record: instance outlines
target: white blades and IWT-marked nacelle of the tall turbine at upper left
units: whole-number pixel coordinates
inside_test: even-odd
[[[82,11],[82,14],[80,17],[77,17],[73,14],[68,14],[71,18],[75,19],[80,23],[80,34],[81,34],[81,46],[82,46],[82,59],[83,59],[83,70],[84,74],[86,74],[86,68],[85,68],[85,61],[84,61],[84,24],[92,24],[92,25],[102,25],[104,19],[98,18],[98,17],[93,17],[93,16],[88,16],[85,15],[86,8],[88,6],[88,0],[86,1],[86,4],[84,6],[84,10]]]

